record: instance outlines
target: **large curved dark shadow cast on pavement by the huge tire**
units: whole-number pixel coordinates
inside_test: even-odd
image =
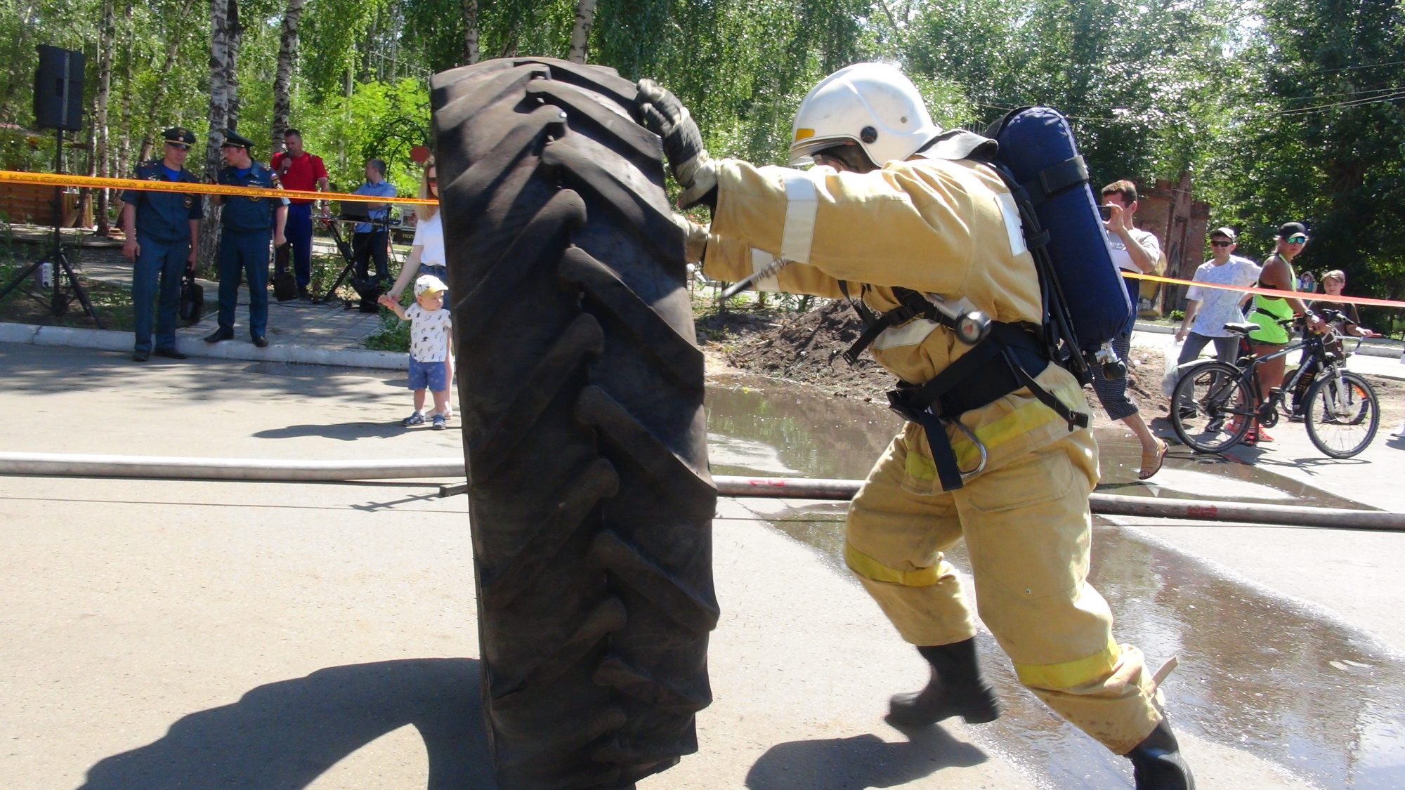
[[[406,724],[424,738],[430,790],[493,790],[478,661],[466,658],[332,666],[259,686],[100,760],[80,790],[296,790]]]

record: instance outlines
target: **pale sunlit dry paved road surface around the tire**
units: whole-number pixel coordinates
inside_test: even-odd
[[[122,354],[30,346],[0,346],[0,409],[21,417],[0,420],[4,450],[459,448],[458,432],[395,425],[407,405],[396,374],[214,360],[138,368]],[[1264,458],[1307,453],[1293,430]],[[1373,448],[1368,467],[1398,468],[1387,451]],[[1366,467],[1319,464],[1311,479],[1395,507],[1385,471],[1349,488]],[[492,787],[468,516],[433,484],[0,478],[6,784]],[[724,619],[702,752],[641,787],[1034,787],[1017,746],[961,727],[909,738],[881,721],[887,694],[922,683],[920,662],[846,574],[769,513],[719,506]],[[1124,523],[1405,651],[1394,616],[1405,536]],[[1186,741],[1205,786],[1305,786],[1252,748]]]

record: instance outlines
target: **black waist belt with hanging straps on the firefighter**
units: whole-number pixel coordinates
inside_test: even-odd
[[[941,491],[961,488],[961,467],[947,439],[947,422],[972,409],[1028,388],[1041,403],[1068,422],[1068,429],[1087,427],[1087,415],[1075,412],[1040,387],[1034,377],[1044,373],[1050,360],[1038,340],[1013,323],[995,322],[991,336],[947,365],[924,384],[899,382],[888,392],[889,408],[909,422],[922,425],[932,447]]]

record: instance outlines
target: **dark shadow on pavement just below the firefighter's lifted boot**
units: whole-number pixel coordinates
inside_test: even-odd
[[[957,741],[940,727],[906,731],[905,744],[877,735],[791,741],[766,751],[746,773],[750,790],[840,790],[892,787],[943,768],[986,760],[979,748]]]

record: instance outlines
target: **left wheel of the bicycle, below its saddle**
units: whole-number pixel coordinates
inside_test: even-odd
[[[1253,399],[1239,368],[1207,363],[1176,382],[1170,395],[1170,426],[1196,453],[1222,453],[1249,433]]]

